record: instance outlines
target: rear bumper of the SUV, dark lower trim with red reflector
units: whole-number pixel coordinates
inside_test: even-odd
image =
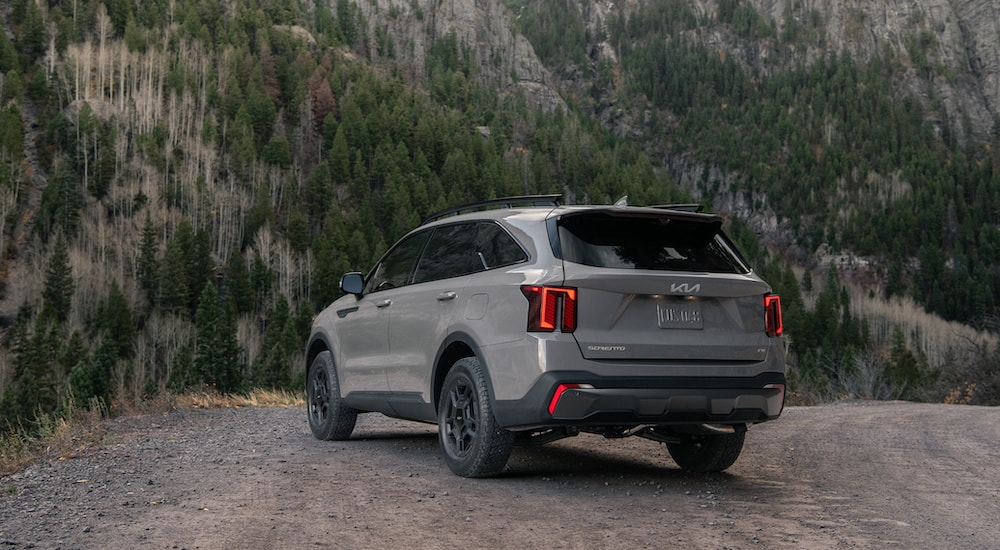
[[[559,390],[564,384],[570,387]],[[523,399],[498,401],[495,412],[508,429],[758,423],[781,414],[784,387],[785,375],[778,372],[747,378],[626,379],[549,372]]]

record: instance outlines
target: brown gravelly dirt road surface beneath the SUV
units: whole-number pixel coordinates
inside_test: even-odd
[[[0,479],[6,548],[1000,548],[1000,409],[848,402],[753,427],[727,472],[582,435],[454,476],[433,426],[302,408],[110,422]]]

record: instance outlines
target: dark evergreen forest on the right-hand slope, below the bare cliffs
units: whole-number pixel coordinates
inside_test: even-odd
[[[998,402],[1000,115],[991,140],[976,143],[952,129],[940,98],[929,98],[928,109],[894,89],[913,66],[928,78],[956,79],[954,68],[932,57],[933,32],[915,33],[905,57],[886,51],[857,63],[827,51],[804,64],[795,52],[823,33],[815,10],[779,29],[747,2],[717,0],[710,16],[684,0],[647,2],[610,13],[604,34],[595,36],[568,0],[509,4],[541,59],[586,74],[590,94],[581,107],[597,110],[606,88],[620,81],[615,101],[660,113],[645,130],[650,141],[669,142],[664,156],[735,175],[720,181],[705,170],[697,183],[703,196],[735,188],[756,197],[754,207],[772,209],[796,248],[810,254],[800,265],[822,252],[870,266],[875,281],[865,281],[867,293],[849,289],[837,265],[797,276],[787,251],[733,220],[730,232],[782,295],[789,374],[799,391]],[[699,39],[719,29],[737,41],[766,41],[776,51],[774,66],[748,67]],[[612,45],[619,67],[581,64],[600,41]],[[943,121],[942,130],[929,119]],[[815,286],[813,271],[825,273]],[[887,307],[911,300],[953,324],[887,320],[905,316],[887,316]],[[929,342],[927,332],[957,332],[959,324],[986,338]]]

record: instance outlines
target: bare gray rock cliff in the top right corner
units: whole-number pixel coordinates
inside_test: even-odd
[[[696,0],[703,13],[715,0]],[[827,51],[850,52],[859,62],[892,55],[907,67],[898,84],[905,92],[940,101],[946,118],[931,116],[961,143],[991,141],[1000,113],[1000,1],[997,0],[750,0],[779,29],[798,24],[817,31],[794,61],[809,63]],[[793,7],[794,6],[794,7]],[[767,44],[734,54],[765,60]],[[920,59],[922,57],[922,59]]]

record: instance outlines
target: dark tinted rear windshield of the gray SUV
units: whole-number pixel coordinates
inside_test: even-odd
[[[567,262],[617,269],[747,273],[714,218],[571,214],[557,222]],[[557,254],[560,251],[557,251]]]

